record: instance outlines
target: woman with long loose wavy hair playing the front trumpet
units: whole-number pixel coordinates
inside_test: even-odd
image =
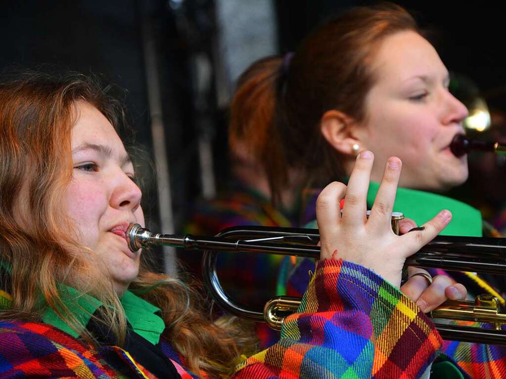
[[[331,183],[318,200],[321,260],[303,305],[276,345],[245,360],[254,340],[237,320],[210,319],[198,294],[155,273],[126,244],[126,227],[144,224],[144,216],[117,133],[122,113],[79,75],[21,73],[0,83],[1,377],[390,378],[426,371],[441,340],[396,288],[405,257],[445,227],[447,211],[403,236],[391,233],[388,207],[364,223],[373,159],[363,152],[348,189]],[[390,163],[381,204],[392,204],[400,174],[399,160]],[[346,191],[354,202],[341,219],[335,204]]]

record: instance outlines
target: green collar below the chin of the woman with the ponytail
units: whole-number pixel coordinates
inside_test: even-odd
[[[378,188],[378,183],[370,183],[369,192],[367,193],[367,204],[372,205],[374,203]],[[476,208],[430,192],[397,188],[394,211],[404,213],[404,216],[413,219],[417,225],[429,221],[443,209],[448,209],[453,217],[441,234],[482,236],[481,213]]]

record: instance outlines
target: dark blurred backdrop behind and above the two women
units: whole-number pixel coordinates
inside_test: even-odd
[[[396,3],[436,31],[443,62],[486,100],[499,135],[506,120],[502,12],[475,2]],[[255,59],[296,49],[331,14],[363,4],[371,2],[2,1],[0,66],[71,69],[116,84],[137,143],[159,164],[144,194],[149,227],[173,232],[185,209],[212,197],[228,175],[227,103],[238,74]],[[487,159],[476,156],[470,180],[452,194],[485,215],[504,198],[496,168],[503,173],[504,162]]]

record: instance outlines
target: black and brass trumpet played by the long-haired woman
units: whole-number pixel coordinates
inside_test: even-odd
[[[398,217],[397,219],[401,219]],[[395,230],[397,221],[393,219]],[[266,322],[281,329],[285,316],[297,311],[300,298],[278,296],[269,300],[264,310],[248,309],[232,299],[220,285],[216,263],[221,251],[280,254],[319,259],[318,229],[236,226],[222,230],[215,237],[190,234],[154,234],[139,224],[126,231],[130,250],[162,245],[186,250],[203,251],[202,277],[207,291],[226,311],[252,321]],[[506,239],[437,236],[432,242],[406,260],[409,266],[442,268],[445,270],[506,274]],[[492,328],[453,325],[435,321],[445,340],[506,345],[506,313],[502,313],[497,298],[480,295],[475,301],[448,300],[431,312],[434,319],[449,318],[492,324]]]

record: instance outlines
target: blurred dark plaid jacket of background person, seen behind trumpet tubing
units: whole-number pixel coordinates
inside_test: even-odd
[[[188,216],[185,233],[215,235],[231,226],[296,226],[286,212],[275,208],[260,193],[234,182],[230,189],[213,200],[198,201]],[[180,259],[200,275],[200,256],[181,254]],[[233,297],[251,299],[250,305],[261,306],[276,292],[276,277],[282,257],[269,254],[243,254],[240,263],[236,255],[221,253],[218,258],[220,282]],[[240,292],[235,284],[241,282]]]

